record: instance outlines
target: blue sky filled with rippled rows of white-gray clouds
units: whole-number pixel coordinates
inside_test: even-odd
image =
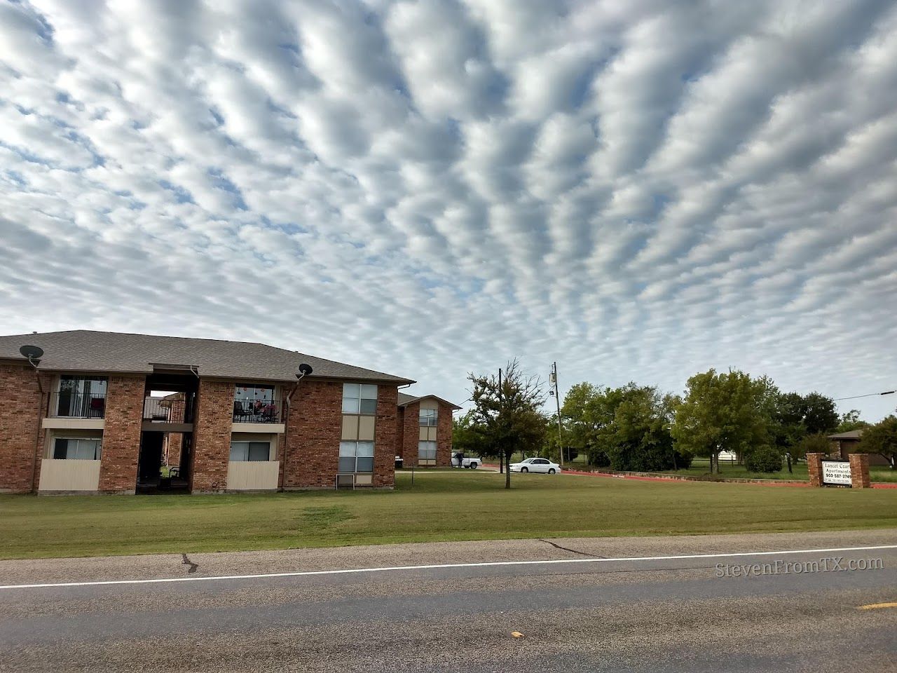
[[[897,3],[0,0],[0,232],[4,334],[897,388]]]

